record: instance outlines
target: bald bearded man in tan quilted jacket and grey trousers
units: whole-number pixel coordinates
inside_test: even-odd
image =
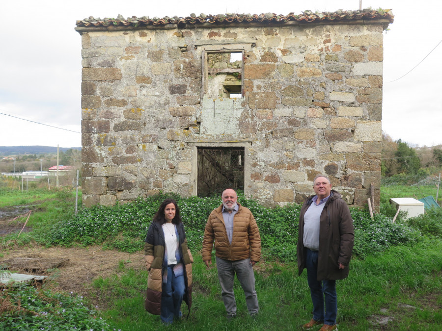
[[[227,318],[236,316],[233,294],[233,279],[241,283],[246,304],[251,316],[258,314],[258,299],[255,290],[253,265],[261,257],[261,237],[250,210],[237,203],[238,197],[232,189],[222,192],[222,204],[214,209],[204,229],[202,259],[207,267],[212,264],[212,248],[215,240],[215,255],[221,296]]]

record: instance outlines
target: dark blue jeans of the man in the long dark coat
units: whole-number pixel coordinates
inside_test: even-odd
[[[337,315],[336,280],[317,280],[318,252],[307,251],[307,282],[313,303],[313,319],[335,325]],[[324,313],[325,301],[325,313]]]

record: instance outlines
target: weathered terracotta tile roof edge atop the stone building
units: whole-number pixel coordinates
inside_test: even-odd
[[[383,20],[385,23],[393,23],[394,15],[391,9],[362,9],[362,10],[337,10],[335,12],[322,12],[314,13],[310,10],[305,10],[300,15],[290,13],[288,15],[276,15],[273,13],[265,14],[218,14],[218,15],[205,15],[201,13],[199,16],[191,14],[187,17],[168,17],[163,18],[148,16],[136,17],[132,16],[125,19],[123,16],[118,15],[117,18],[94,18],[90,16],[81,21],[77,21],[79,27],[109,27],[109,26],[133,26],[139,27],[143,25],[170,25],[170,24],[226,24],[226,23],[242,23],[247,25],[249,23],[284,23],[288,21],[294,21],[299,23],[320,23],[320,22],[336,22],[336,21],[376,21]]]

